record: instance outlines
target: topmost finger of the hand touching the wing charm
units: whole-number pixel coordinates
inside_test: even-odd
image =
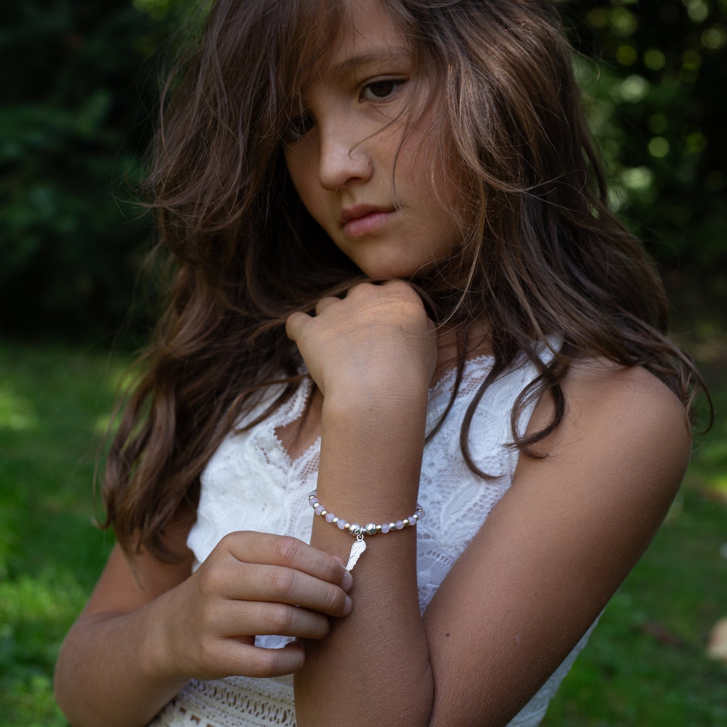
[[[332,555],[287,535],[238,531],[225,535],[220,544],[238,561],[285,566],[334,585],[342,585],[348,573]]]

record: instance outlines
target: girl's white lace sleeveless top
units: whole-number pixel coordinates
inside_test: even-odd
[[[550,340],[558,347],[558,340]],[[546,363],[552,353],[542,345]],[[510,412],[518,394],[536,376],[535,367],[522,358],[486,390],[470,427],[474,462],[497,479],[484,481],[465,464],[459,449],[459,428],[467,404],[493,364],[491,356],[465,363],[465,371],[451,411],[441,429],[427,443],[422,460],[418,501],[425,518],[417,524],[417,580],[419,606],[425,610],[447,572],[465,550],[492,508],[513,481],[518,451],[504,445],[512,441]],[[455,371],[446,372],[430,389],[427,431],[440,419],[454,388]],[[301,416],[312,382],[306,379],[293,397],[271,417],[244,433],[231,432],[209,460],[201,475],[197,520],[187,544],[195,555],[193,569],[212,552],[226,534],[254,530],[292,535],[310,542],[313,510],[308,493],[316,488],[320,438],[291,461],[276,429]],[[257,416],[278,395],[269,395],[250,412]],[[527,407],[518,424],[523,433],[534,409]],[[243,423],[243,422],[241,422]],[[345,554],[344,554],[345,555]],[[598,619],[597,619],[598,620]],[[594,624],[508,727],[536,727],[547,704],[585,646]],[[257,646],[283,646],[290,638],[258,636]],[[149,727],[295,727],[293,677],[190,680],[166,704]]]

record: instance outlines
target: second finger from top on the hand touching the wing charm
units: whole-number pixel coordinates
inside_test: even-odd
[[[230,560],[219,577],[224,583],[221,594],[227,598],[289,603],[329,616],[345,616],[351,610],[351,600],[340,586],[292,568]]]

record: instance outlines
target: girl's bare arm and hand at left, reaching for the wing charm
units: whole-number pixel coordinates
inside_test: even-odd
[[[174,529],[183,555],[174,566],[147,554],[132,572],[118,546],[111,553],[56,667],[57,701],[73,727],[142,727],[190,678],[293,672],[305,659],[299,643],[260,648],[255,635],[324,638],[324,614],[348,612],[350,577],[326,553],[231,533],[190,576],[188,529]]]

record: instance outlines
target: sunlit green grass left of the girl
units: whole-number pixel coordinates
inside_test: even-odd
[[[93,525],[99,430],[125,361],[0,345],[0,725],[65,725],[60,643],[113,538]],[[111,654],[110,654],[111,656]]]

